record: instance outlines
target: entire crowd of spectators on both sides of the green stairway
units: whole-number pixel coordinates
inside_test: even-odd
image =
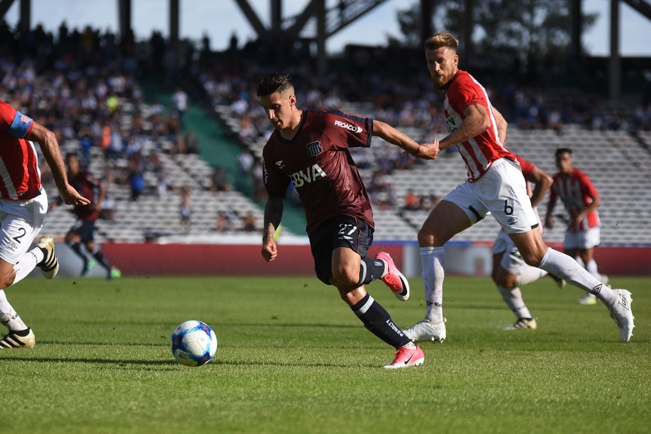
[[[229,181],[223,168],[215,168],[210,189],[236,189],[264,200],[261,162],[253,152],[253,144],[264,140],[271,126],[259,106],[255,88],[262,75],[277,68],[258,61],[256,53],[260,51],[255,50],[264,47],[249,44],[238,50],[232,44],[224,53],[209,53],[208,45],[204,38],[197,55],[192,44],[169,49],[158,32],[148,41],[135,42],[132,35],[118,38],[109,31],[90,27],[70,31],[65,23],[56,35],[40,26],[21,35],[0,21],[0,97],[55,131],[61,144],[77,140],[83,163],[89,163],[93,147],[100,147],[107,161],[105,180],[128,185],[130,198],[136,201],[143,194],[163,196],[171,189],[169,173],[161,164],[159,152],[196,153],[199,149],[195,134],[184,130],[187,94],[180,87],[174,90],[171,116],[165,114],[158,101],[143,111],[138,75],[163,71],[169,78],[173,71],[185,71],[192,81],[199,83],[212,106],[229,107],[230,116],[238,121],[238,177]],[[441,112],[442,95],[434,90],[424,66],[421,71],[409,73],[408,79],[404,74],[396,77],[384,73],[381,68],[363,73],[333,72],[317,79],[309,57],[297,57],[284,65],[288,65],[284,69],[292,74],[297,85],[301,108],[353,107],[351,110],[357,114],[411,129],[415,140],[431,140],[447,131]],[[516,85],[508,77],[489,86],[487,92],[510,125],[523,129],[544,128],[559,133],[566,125],[596,130],[651,129],[648,101],[613,105],[602,97],[578,90],[540,90]],[[122,119],[125,104],[132,107],[129,123]],[[145,140],[166,146],[145,152]],[[355,149],[353,158],[359,168],[374,173],[368,184],[374,203],[380,207],[400,207],[391,186],[382,182],[383,174],[409,170],[418,163],[393,147],[373,152]],[[51,176],[47,166],[43,169],[47,183]],[[152,190],[145,183],[148,172],[158,179]],[[290,192],[290,198],[295,196]],[[403,206],[424,209],[435,199],[418,198],[416,204],[415,198],[409,196],[409,203]],[[228,227],[228,220],[218,217],[217,227]]]

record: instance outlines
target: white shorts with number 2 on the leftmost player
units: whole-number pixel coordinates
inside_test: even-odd
[[[48,212],[48,195],[28,201],[0,199],[0,259],[16,264],[40,232]]]

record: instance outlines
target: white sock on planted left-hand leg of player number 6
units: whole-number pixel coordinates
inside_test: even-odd
[[[443,277],[445,250],[443,247],[421,247],[422,284],[427,303],[426,320],[443,321]]]

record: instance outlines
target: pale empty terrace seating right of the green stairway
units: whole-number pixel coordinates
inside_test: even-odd
[[[373,108],[368,104],[349,103],[342,110],[362,116],[372,116]],[[225,122],[232,134],[236,134],[239,121],[229,106],[217,106],[215,112]],[[270,128],[271,131],[271,128]],[[401,129],[415,140],[432,140],[427,132],[416,129]],[[441,134],[442,138],[445,134]],[[262,156],[262,147],[268,134],[262,134],[247,145],[256,157]],[[651,133],[640,132],[638,137],[626,131],[589,131],[566,125],[562,133],[553,130],[521,130],[510,127],[507,146],[533,164],[545,170],[549,175],[557,172],[554,152],[559,147],[570,147],[574,151],[574,164],[587,173],[599,190],[603,203],[599,209],[602,220],[602,243],[605,244],[651,244]],[[368,160],[362,153],[368,149],[353,150],[353,159]],[[372,161],[385,153],[395,152],[396,148],[379,138],[373,138]],[[399,151],[399,150],[398,150]],[[360,170],[365,182],[370,185],[371,168]],[[424,222],[428,211],[402,211],[404,197],[408,190],[419,195],[436,194],[443,198],[445,194],[465,181],[466,173],[463,160],[456,149],[449,149],[439,154],[436,162],[428,161],[417,164],[411,170],[394,170],[386,174],[385,179],[393,187],[396,207],[379,211],[375,207],[376,240],[415,240],[415,234]],[[538,206],[542,218],[547,209],[547,198]],[[564,207],[559,201],[555,214],[564,215]],[[402,223],[405,224],[402,224]],[[460,241],[492,241],[500,227],[488,216],[469,230],[455,236]],[[544,238],[553,242],[562,242],[565,223],[556,219],[553,229],[547,229]]]

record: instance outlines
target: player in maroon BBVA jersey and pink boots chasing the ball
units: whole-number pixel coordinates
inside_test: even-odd
[[[381,279],[398,299],[409,297],[409,283],[387,253],[378,253],[375,259],[366,257],[373,240],[373,212],[348,148],[369,147],[371,136],[379,136],[417,157],[427,158],[425,151],[431,149],[370,118],[341,111],[299,110],[294,86],[284,73],[264,77],[257,95],[275,129],[262,151],[268,192],[262,257],[270,262],[278,254],[273,236],[292,182],[305,207],[317,277],[337,287],[342,300],[365,327],[396,348],[395,360],[385,368],[421,364],[421,348],[404,335],[365,290],[364,285]]]

